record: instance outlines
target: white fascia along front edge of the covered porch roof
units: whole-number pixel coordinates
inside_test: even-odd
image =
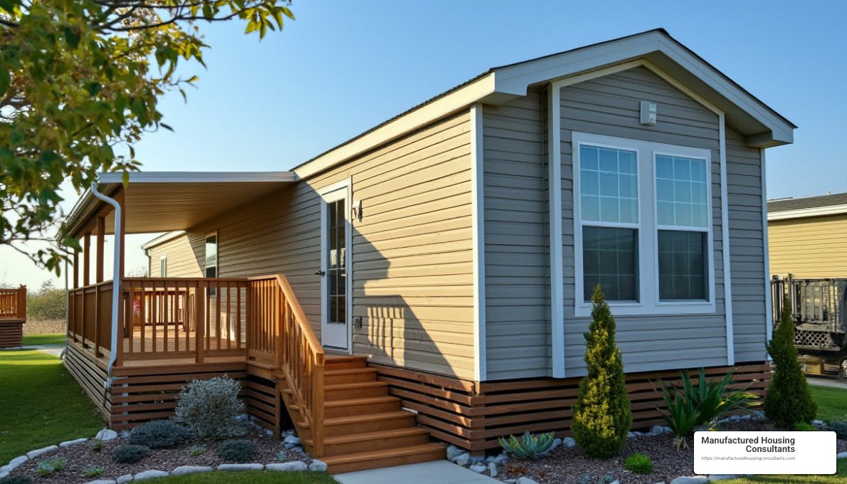
[[[123,183],[122,172],[101,173],[101,185]],[[130,183],[267,183],[296,181],[291,171],[134,171]]]

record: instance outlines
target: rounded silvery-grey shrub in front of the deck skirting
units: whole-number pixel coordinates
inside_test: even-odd
[[[243,435],[235,416],[244,411],[238,399],[241,384],[227,376],[194,380],[180,390],[175,418],[202,438],[228,438]]]

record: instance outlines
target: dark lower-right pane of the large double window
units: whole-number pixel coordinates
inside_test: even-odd
[[[659,299],[704,300],[706,232],[659,231]]]

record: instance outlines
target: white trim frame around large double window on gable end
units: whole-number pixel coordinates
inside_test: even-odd
[[[615,136],[602,136],[590,133],[573,131],[572,134],[572,159],[573,159],[573,255],[575,259],[575,291],[574,291],[574,315],[586,317],[591,314],[591,302],[582,301],[583,287],[583,255],[582,255],[582,227],[583,221],[580,209],[579,190],[579,145],[590,144],[591,146],[612,147],[637,152],[636,173],[638,176],[638,261],[639,261],[639,302],[617,302],[609,301],[609,306],[616,315],[651,315],[651,314],[714,314],[715,313],[715,264],[714,264],[714,235],[712,219],[712,195],[711,195],[711,150],[694,147],[680,147],[657,142],[646,142],[620,138]],[[709,267],[707,283],[708,299],[705,301],[660,301],[659,300],[659,259],[658,259],[658,230],[656,221],[656,153],[673,153],[687,158],[706,159],[706,186],[708,186],[708,253]],[[649,170],[645,170],[649,166]],[[646,172],[646,173],[645,173]],[[593,224],[590,224],[593,225]],[[634,224],[614,224],[601,222],[597,225],[609,227],[635,228]],[[673,230],[685,230],[684,228],[673,228]],[[692,229],[688,229],[692,230]],[[696,231],[700,231],[696,229]]]

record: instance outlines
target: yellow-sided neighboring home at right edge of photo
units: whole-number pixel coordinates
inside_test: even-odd
[[[847,278],[847,193],[767,203],[772,275]]]

